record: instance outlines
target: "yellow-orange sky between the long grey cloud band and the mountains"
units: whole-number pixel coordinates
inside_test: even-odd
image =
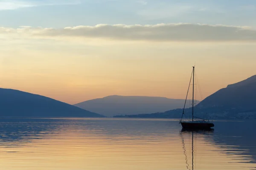
[[[44,41],[10,39],[8,46],[2,44],[3,88],[69,104],[108,95],[185,98],[195,64],[202,90],[198,100],[203,100],[256,72],[254,43]]]

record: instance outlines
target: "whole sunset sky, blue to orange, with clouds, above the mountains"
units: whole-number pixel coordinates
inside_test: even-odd
[[[0,0],[0,87],[203,100],[256,75],[255,0]]]

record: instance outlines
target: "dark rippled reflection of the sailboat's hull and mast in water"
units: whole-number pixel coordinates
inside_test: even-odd
[[[186,129],[182,128],[180,131],[180,136],[182,140],[182,145],[183,145],[183,153],[185,156],[185,161],[186,161],[186,168],[188,170],[195,170],[194,169],[194,135],[212,135],[214,132],[214,129],[204,129],[204,130],[199,130],[199,129]],[[189,160],[188,156],[188,151],[186,150],[186,144],[185,144],[185,139],[184,139],[184,134],[189,136],[189,139],[191,137],[191,140],[189,140],[189,145],[191,145],[191,161]],[[190,143],[191,142],[191,143]],[[190,146],[188,147],[190,148]],[[191,162],[191,164],[190,164]],[[191,167],[191,169],[190,169]]]

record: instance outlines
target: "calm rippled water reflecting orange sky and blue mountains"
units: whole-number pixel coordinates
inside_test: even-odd
[[[192,149],[194,170],[256,169],[253,121],[216,121],[214,129],[192,134],[159,119],[1,118],[0,169],[192,170]]]

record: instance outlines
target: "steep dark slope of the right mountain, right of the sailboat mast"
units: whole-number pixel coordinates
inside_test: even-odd
[[[223,118],[256,117],[256,75],[218,90],[195,108]]]

